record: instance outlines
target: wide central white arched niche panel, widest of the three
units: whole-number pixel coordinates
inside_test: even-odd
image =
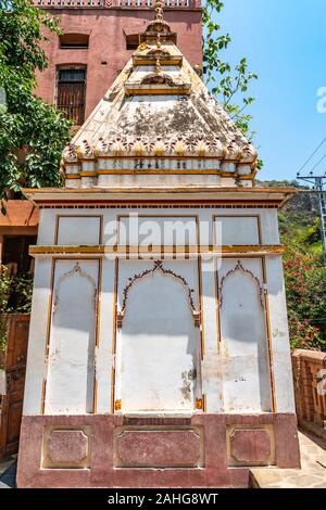
[[[168,266],[177,273],[180,263]],[[193,265],[187,266],[193,273]],[[123,263],[122,272],[138,275],[143,267],[150,269],[152,263]],[[115,395],[123,410],[195,410],[200,396],[199,359],[200,335],[187,288],[161,270],[135,282],[117,336]]]

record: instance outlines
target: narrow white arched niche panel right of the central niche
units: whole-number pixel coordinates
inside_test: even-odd
[[[220,270],[224,410],[271,411],[262,263],[242,259],[250,273],[236,270],[237,264],[237,259],[224,260]]]

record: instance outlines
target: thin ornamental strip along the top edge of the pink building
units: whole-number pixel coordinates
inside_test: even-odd
[[[154,3],[154,0],[34,0],[35,5],[43,9],[151,9]],[[163,0],[163,5],[167,9],[200,9],[201,0]]]

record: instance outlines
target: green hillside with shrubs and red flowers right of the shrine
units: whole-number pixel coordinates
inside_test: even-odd
[[[286,246],[291,346],[326,350],[326,270],[317,196],[297,181],[266,181],[258,186],[298,189],[297,195],[279,212],[281,242]]]

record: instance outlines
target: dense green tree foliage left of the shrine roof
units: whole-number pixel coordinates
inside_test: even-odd
[[[22,187],[60,186],[61,153],[71,124],[52,105],[33,94],[35,72],[47,67],[40,47],[43,29],[58,23],[30,0],[0,3],[0,200]],[[4,91],[4,93],[3,93]]]

